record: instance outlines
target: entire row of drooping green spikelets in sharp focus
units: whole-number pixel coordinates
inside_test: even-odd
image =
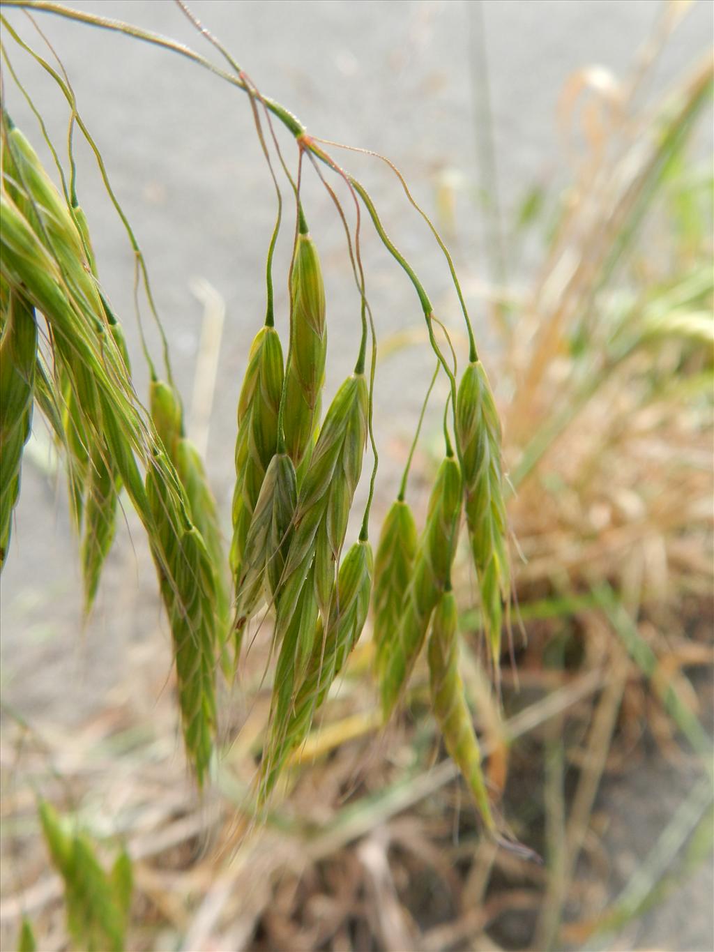
[[[446,434],[446,457],[421,535],[403,490],[387,515],[374,564],[369,504],[358,542],[343,555],[367,446],[367,326],[363,322],[355,370],[321,420],[325,289],[300,208],[287,355],[268,308],[250,348],[238,403],[231,605],[216,506],[201,458],[185,435],[170,368],[166,382],[151,365],[146,413],[133,390],[121,325],[97,277],[82,209],[54,188],[7,115],[2,145],[3,561],[36,401],[66,451],[88,610],[114,536],[122,488],[146,527],[169,616],[185,744],[199,784],[215,744],[216,668],[223,664],[232,677],[251,620],[260,624],[266,607],[274,611],[275,676],[258,789],[265,803],[344,669],[373,601],[375,673],[385,720],[428,640],[435,716],[486,826],[493,828],[458,675],[451,593],[466,513],[487,643],[497,666],[509,598],[506,513],[500,426],[481,363],[472,361],[458,392],[452,388],[456,451]]]

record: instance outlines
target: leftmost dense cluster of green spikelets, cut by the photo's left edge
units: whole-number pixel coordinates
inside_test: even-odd
[[[36,400],[66,451],[88,611],[122,487],[146,527],[169,614],[188,757],[203,783],[215,736],[215,662],[228,632],[220,532],[203,465],[169,385],[153,381],[150,415],[142,410],[82,209],[60,195],[7,114],[0,202],[2,564]]]

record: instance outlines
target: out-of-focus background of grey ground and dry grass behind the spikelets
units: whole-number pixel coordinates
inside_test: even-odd
[[[219,61],[168,0],[74,6]],[[492,795],[544,863],[484,840],[440,747],[426,667],[407,709],[380,727],[368,631],[257,830],[239,804],[268,710],[268,635],[259,635],[240,684],[225,689],[225,748],[199,801],[138,520],[125,507],[84,620],[66,486],[37,414],[0,605],[3,947],[23,915],[38,947],[68,947],[61,883],[35,816],[41,793],[109,853],[128,843],[131,948],[714,948],[711,4],[194,0],[191,9],[310,133],[387,155],[453,253],[504,420],[520,606],[499,704],[462,553],[463,675]],[[47,50],[28,17],[4,13]],[[189,435],[206,452],[228,526],[236,403],[265,314],[275,216],[248,101],[169,51],[59,17],[38,14],[36,24],[146,255]],[[3,32],[59,147],[66,104]],[[7,69],[3,84],[50,167]],[[289,135],[277,134],[293,162]],[[79,140],[75,149],[100,276],[142,395],[132,252],[89,149]],[[446,262],[398,180],[378,159],[332,154],[366,184],[465,360]],[[359,296],[342,224],[311,169],[303,188],[325,271],[331,395],[354,364]],[[275,261],[281,332],[288,201],[286,210]],[[376,539],[433,359],[405,275],[367,222],[362,240],[382,354]],[[158,352],[146,307],[142,319]],[[445,398],[437,386],[412,470],[420,514]]]

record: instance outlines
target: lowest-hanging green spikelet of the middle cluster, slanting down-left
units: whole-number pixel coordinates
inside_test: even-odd
[[[360,541],[352,545],[340,565],[337,585],[332,593],[327,627],[317,622],[313,647],[302,684],[286,690],[286,680],[276,674],[273,691],[268,754],[263,762],[261,799],[265,801],[277,780],[280,769],[296,747],[307,737],[314,712],[322,706],[327,691],[345,667],[347,658],[365,627],[372,589],[374,563],[371,545]],[[297,613],[296,613],[297,614]],[[285,642],[284,645],[288,645]],[[286,655],[285,659],[283,655]],[[281,652],[286,671],[294,670],[294,662]],[[281,672],[281,664],[278,672]]]

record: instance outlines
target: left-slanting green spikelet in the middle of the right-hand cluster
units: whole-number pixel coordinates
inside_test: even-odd
[[[382,711],[389,718],[424,645],[429,619],[449,584],[462,506],[461,472],[452,456],[439,467],[431,490],[402,619],[385,648],[381,678]]]

